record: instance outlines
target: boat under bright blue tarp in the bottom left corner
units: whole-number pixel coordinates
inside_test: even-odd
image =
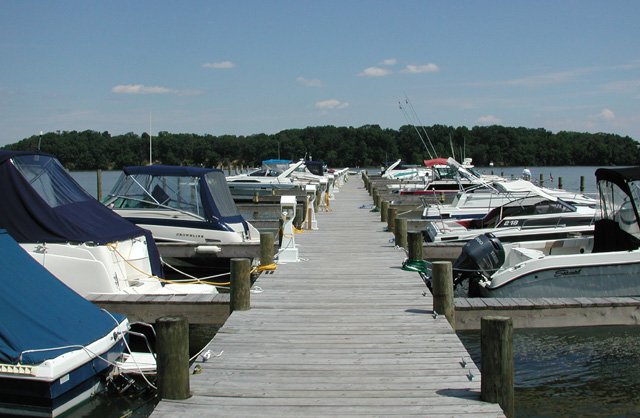
[[[0,280],[0,414],[58,416],[104,390],[127,318],[71,290],[6,230]]]

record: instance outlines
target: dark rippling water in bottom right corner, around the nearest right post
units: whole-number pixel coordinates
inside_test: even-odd
[[[513,350],[516,416],[640,417],[640,327],[516,329]]]

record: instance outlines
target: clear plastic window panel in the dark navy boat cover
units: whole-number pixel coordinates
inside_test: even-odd
[[[60,162],[47,155],[21,155],[11,159],[20,174],[52,208],[93,199]]]

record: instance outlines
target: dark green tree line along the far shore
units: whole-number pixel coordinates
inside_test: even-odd
[[[638,142],[607,133],[523,127],[405,125],[398,130],[318,126],[276,134],[198,135],[159,132],[150,138],[129,132],[57,131],[33,135],[4,149],[55,155],[70,170],[119,170],[149,163],[213,167],[258,166],[267,159],[323,160],[331,167],[375,167],[397,159],[422,164],[435,156],[470,157],[477,166],[611,166],[640,162]],[[38,148],[39,147],[39,148]]]

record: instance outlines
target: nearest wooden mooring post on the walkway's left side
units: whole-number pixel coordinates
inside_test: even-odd
[[[189,323],[181,316],[165,316],[155,323],[158,395],[187,399],[189,392]]]

